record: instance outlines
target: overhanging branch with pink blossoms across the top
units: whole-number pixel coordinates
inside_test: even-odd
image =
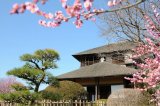
[[[146,0],[137,0],[137,2],[130,2],[129,5],[123,7],[113,8],[110,10],[98,9],[93,7],[94,0],[74,0],[73,5],[69,5],[71,1],[60,0],[64,11],[57,10],[55,13],[47,13],[39,8],[39,5],[44,5],[48,0],[32,0],[22,4],[15,3],[10,11],[11,14],[24,13],[26,10],[33,14],[42,16],[44,20],[39,20],[39,24],[45,27],[57,27],[63,22],[69,22],[74,19],[74,24],[77,28],[81,27],[84,20],[95,20],[95,16],[107,13],[115,12],[126,8],[136,6]],[[125,0],[109,0],[106,6],[115,7],[120,3],[128,2]]]

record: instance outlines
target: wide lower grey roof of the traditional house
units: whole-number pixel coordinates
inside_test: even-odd
[[[108,62],[95,63],[57,76],[58,79],[128,76],[137,70]]]

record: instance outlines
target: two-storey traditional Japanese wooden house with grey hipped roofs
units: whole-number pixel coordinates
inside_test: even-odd
[[[116,89],[131,87],[124,77],[136,72],[130,58],[135,46],[132,42],[119,42],[74,54],[81,67],[59,75],[58,79],[83,85],[89,100],[106,99]]]

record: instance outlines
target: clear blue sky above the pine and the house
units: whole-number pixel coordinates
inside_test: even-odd
[[[100,31],[93,22],[85,22],[80,29],[75,28],[72,22],[53,29],[39,26],[41,17],[29,12],[10,15],[12,4],[19,1],[22,0],[0,1],[0,78],[7,77],[8,70],[22,66],[24,63],[19,57],[25,53],[45,48],[57,50],[60,54],[59,68],[52,73],[59,75],[79,68],[80,64],[72,54],[107,43],[99,36]],[[51,7],[47,8],[51,11]]]

